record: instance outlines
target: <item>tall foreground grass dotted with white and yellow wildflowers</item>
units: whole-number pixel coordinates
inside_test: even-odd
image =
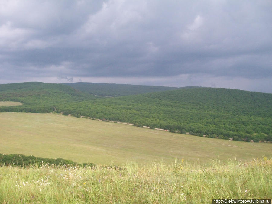
[[[121,169],[0,168],[0,203],[211,203],[212,199],[271,199],[272,159],[212,165],[176,161]]]

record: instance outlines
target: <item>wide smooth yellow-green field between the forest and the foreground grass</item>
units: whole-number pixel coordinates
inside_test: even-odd
[[[270,157],[270,143],[202,138],[59,114],[0,113],[0,152],[123,165]]]

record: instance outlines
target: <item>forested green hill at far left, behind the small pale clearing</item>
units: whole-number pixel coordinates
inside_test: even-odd
[[[42,82],[0,84],[0,101],[17,101],[22,106],[0,107],[0,112],[48,113],[60,103],[83,101],[94,96],[70,86]]]

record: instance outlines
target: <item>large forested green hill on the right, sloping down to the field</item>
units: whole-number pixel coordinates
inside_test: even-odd
[[[177,89],[67,103],[58,109],[92,118],[187,131],[199,136],[206,134],[249,141],[272,136],[272,94],[260,92],[222,88]]]

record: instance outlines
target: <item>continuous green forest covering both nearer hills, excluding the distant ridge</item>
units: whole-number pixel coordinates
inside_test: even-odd
[[[55,107],[58,113],[197,136],[272,141],[272,94],[205,87],[114,98],[101,97],[104,93],[97,92],[99,97],[64,84],[3,84],[0,101],[18,101],[23,105],[0,107],[0,111],[40,113],[52,112]]]

